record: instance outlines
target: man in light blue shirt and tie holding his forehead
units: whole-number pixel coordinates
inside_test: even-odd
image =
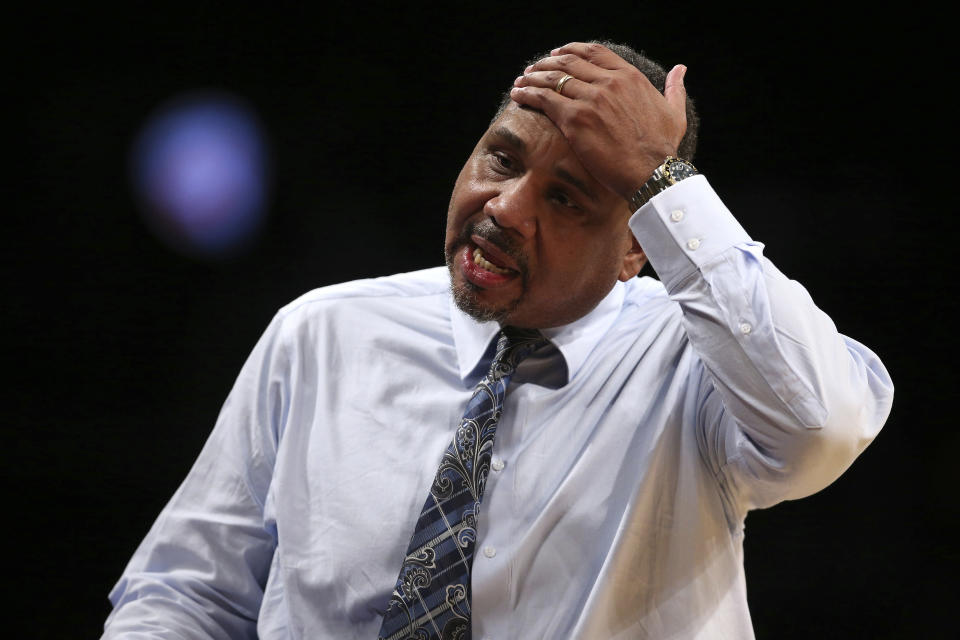
[[[278,313],[105,637],[752,637],[747,511],[832,482],[892,386],[669,160],[685,68],[661,93],[611,46],[516,79],[454,186],[449,273]],[[503,360],[514,328],[540,332]]]

